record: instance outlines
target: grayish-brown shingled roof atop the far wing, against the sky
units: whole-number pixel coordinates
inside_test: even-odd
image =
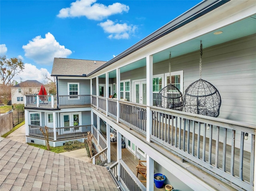
[[[68,58],[54,58],[52,65],[52,76],[84,76],[106,61],[80,60]]]

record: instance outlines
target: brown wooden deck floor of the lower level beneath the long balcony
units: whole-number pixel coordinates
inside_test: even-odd
[[[111,147],[111,163],[116,162],[117,160],[117,142],[110,142],[110,147]],[[127,148],[122,149],[122,160],[126,163],[126,165],[130,168],[130,170],[136,175],[136,166],[139,163],[139,159],[132,154]],[[140,180],[145,180],[142,175],[138,175],[138,179]],[[143,183],[143,185],[146,187],[146,183]],[[154,191],[165,191],[165,188],[156,188],[154,185]]]

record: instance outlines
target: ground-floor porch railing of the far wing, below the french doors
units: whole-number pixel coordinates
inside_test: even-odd
[[[40,127],[44,130],[44,127],[42,126],[29,125],[29,135],[39,137],[39,138],[44,138],[44,135],[40,131]],[[48,136],[49,136],[49,140],[51,141],[68,139],[68,138],[78,138],[78,137],[86,136],[87,132],[91,130],[92,130],[92,125],[59,127],[55,129],[56,138],[54,139],[54,128],[48,128]]]

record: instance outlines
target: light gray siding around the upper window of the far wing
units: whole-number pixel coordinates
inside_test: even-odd
[[[80,95],[90,95],[90,80],[88,79],[59,79],[59,95],[68,95],[68,83],[79,83]]]

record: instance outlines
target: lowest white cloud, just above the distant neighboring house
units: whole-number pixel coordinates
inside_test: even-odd
[[[18,83],[20,83],[21,79],[22,81],[26,80],[37,80],[41,83],[45,83],[46,80],[44,79],[44,75],[47,75],[50,77],[50,73],[45,68],[38,69],[35,65],[25,63],[24,69],[22,72],[17,74],[13,79],[16,80]]]

